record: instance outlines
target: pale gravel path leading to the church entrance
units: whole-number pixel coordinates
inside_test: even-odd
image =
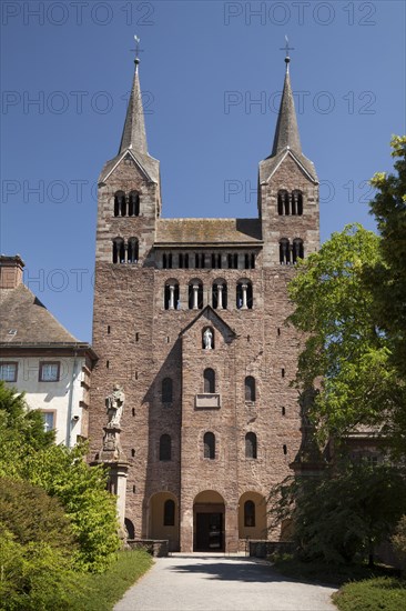
[[[254,559],[175,555],[156,559],[114,611],[333,611],[333,592]]]

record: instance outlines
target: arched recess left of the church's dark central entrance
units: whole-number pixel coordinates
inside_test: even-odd
[[[166,539],[169,550],[179,551],[177,499],[171,492],[158,492],[150,499],[149,538]]]

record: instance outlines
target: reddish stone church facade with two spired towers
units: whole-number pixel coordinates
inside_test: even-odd
[[[99,179],[91,451],[119,383],[125,524],[174,551],[233,552],[266,539],[270,488],[301,445],[286,286],[296,260],[318,248],[318,181],[285,61],[258,218],[161,218],[138,59],[120,150]]]

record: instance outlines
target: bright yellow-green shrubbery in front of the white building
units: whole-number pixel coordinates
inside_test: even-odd
[[[0,384],[0,477],[26,480],[59,499],[79,542],[75,568],[102,572],[120,547],[115,497],[106,472],[85,462],[87,445],[55,445],[41,414]]]

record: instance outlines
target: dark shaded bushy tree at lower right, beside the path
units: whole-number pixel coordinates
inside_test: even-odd
[[[290,520],[304,560],[348,563],[368,557],[404,512],[406,481],[397,469],[361,461],[319,477],[288,478],[270,495],[274,523]]]

